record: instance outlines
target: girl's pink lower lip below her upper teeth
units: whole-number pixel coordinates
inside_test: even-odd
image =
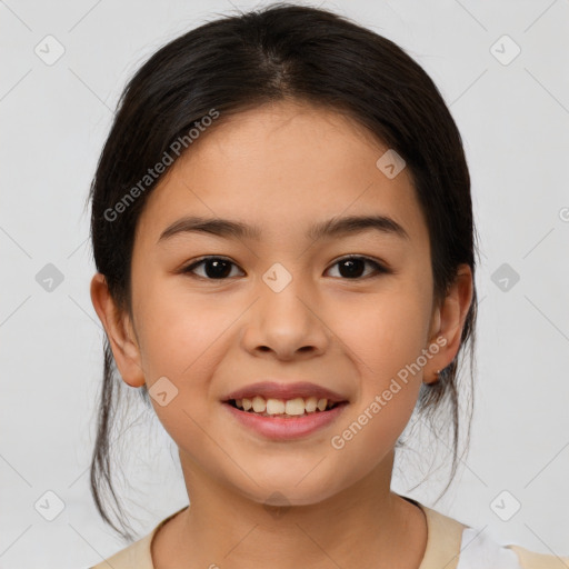
[[[343,402],[337,405],[329,411],[316,411],[309,415],[284,419],[280,417],[262,417],[248,411],[241,411],[229,403],[223,403],[241,425],[272,440],[290,440],[307,437],[335,421],[347,405],[348,403]]]

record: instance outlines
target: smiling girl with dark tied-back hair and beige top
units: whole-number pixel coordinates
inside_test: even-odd
[[[127,87],[90,198],[94,500],[112,525],[116,365],[190,501],[97,569],[560,567],[390,490],[416,408],[450,406],[456,468],[477,307],[461,138],[395,43],[292,4],[188,32]]]

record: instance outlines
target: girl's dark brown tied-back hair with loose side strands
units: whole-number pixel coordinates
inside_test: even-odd
[[[211,109],[222,121],[224,116],[284,98],[348,114],[405,159],[428,224],[437,301],[445,298],[460,263],[475,273],[469,171],[460,133],[432,80],[396,43],[347,18],[278,3],[221,17],[184,33],[152,54],[127,84],[89,193],[94,262],[119,309],[132,316],[134,229],[161,176],[134,192],[136,199],[121,208],[120,214],[114,214],[117,203],[129,192],[133,196],[137,184],[140,190],[148,169]],[[450,413],[451,420],[442,425],[452,432],[451,479],[459,460],[458,356],[470,347],[471,386],[476,309],[475,288],[459,353],[436,383],[421,386],[416,408],[433,429],[436,411]],[[112,487],[109,437],[121,409],[119,401],[132,388],[118,376],[107,337],[103,349],[91,491],[106,522],[130,540]],[[146,386],[139,391],[150,409]],[[468,402],[469,440],[471,398]],[[109,517],[102,499],[104,487],[112,496],[122,531]]]

